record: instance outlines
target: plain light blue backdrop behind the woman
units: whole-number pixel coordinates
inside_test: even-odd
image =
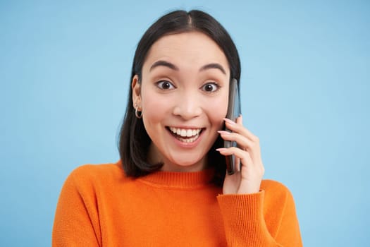
[[[237,44],[245,125],[304,246],[369,246],[370,2],[350,0],[0,1],[0,245],[50,246],[70,171],[118,160],[135,46],[177,8]]]

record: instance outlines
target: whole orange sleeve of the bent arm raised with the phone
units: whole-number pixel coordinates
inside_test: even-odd
[[[218,195],[228,246],[302,246],[292,194],[269,183],[259,193]]]

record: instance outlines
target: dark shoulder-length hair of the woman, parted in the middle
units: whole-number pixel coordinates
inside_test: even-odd
[[[142,66],[147,53],[152,47],[152,44],[165,35],[171,35],[181,32],[197,31],[202,32],[223,50],[223,53],[228,59],[230,66],[230,79],[235,78],[240,80],[240,59],[238,50],[235,47],[233,40],[223,26],[218,23],[212,16],[203,11],[173,11],[162,16],[150,26],[144,33],[135,52],[134,61],[132,64],[132,73],[130,77],[128,104],[123,119],[123,125],[119,136],[118,150],[120,153],[123,169],[127,176],[144,176],[146,174],[158,171],[163,164],[149,164],[147,162],[147,154],[149,145],[152,140],[145,131],[142,119],[137,119],[135,109],[132,105],[132,78],[137,75],[138,82],[142,80]],[[215,167],[214,182],[222,185],[226,174],[225,157],[220,155],[215,149],[221,147],[223,140],[218,137],[213,147],[208,152],[208,162],[212,167]]]

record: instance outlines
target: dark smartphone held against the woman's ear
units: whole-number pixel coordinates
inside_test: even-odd
[[[238,116],[242,114],[242,109],[240,107],[240,95],[238,90],[238,81],[233,78],[230,81],[229,95],[228,95],[228,113],[226,118],[236,121]],[[228,128],[225,127],[225,131],[231,132]],[[224,147],[236,147],[235,141],[224,140]],[[235,155],[226,156],[226,169],[229,175],[234,174],[235,172]]]

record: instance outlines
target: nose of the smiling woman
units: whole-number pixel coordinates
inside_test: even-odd
[[[185,120],[193,119],[202,114],[200,100],[194,92],[187,92],[179,95],[173,107],[173,114]]]

